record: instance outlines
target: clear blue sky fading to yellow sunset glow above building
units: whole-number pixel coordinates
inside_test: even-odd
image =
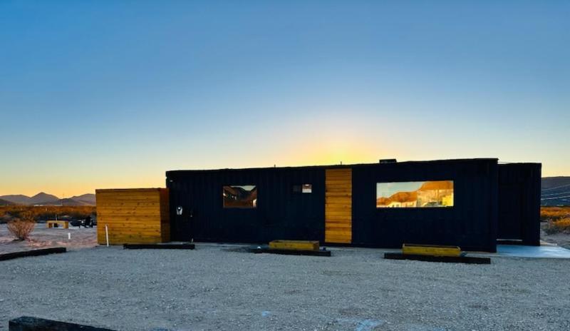
[[[570,175],[570,1],[0,1],[0,195],[497,157]]]

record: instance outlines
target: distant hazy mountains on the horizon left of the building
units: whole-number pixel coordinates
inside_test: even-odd
[[[71,198],[58,198],[48,193],[27,195],[0,195],[0,205],[95,205],[95,194],[75,195]]]

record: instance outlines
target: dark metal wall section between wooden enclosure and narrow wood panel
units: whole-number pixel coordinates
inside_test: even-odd
[[[302,184],[312,184],[312,193],[293,191]],[[257,208],[223,208],[224,185],[257,185]],[[167,187],[173,240],[324,240],[323,168],[169,171]],[[182,215],[176,214],[179,205]]]

